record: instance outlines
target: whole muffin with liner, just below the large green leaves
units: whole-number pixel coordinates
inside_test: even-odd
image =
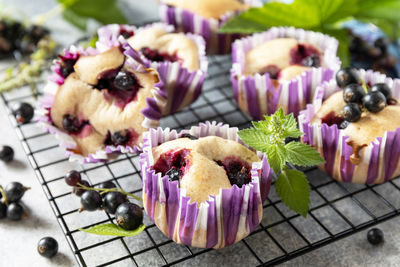
[[[297,116],[339,69],[337,46],[327,35],[288,27],[236,40],[231,81],[238,106],[256,120],[280,107]]]

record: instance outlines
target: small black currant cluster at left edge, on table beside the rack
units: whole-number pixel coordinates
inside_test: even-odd
[[[4,189],[0,186],[0,219],[19,221],[26,216],[20,200],[29,189],[19,182],[9,183]]]

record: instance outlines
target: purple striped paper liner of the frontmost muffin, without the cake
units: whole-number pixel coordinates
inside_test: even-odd
[[[226,124],[205,122],[180,133],[158,128],[143,135],[140,166],[144,208],[157,227],[175,242],[217,249],[246,237],[262,219],[262,203],[269,193],[273,171],[266,155],[258,152],[262,160],[252,165],[251,183],[242,188],[233,185],[231,189],[220,189],[218,195],[210,195],[197,207],[197,203],[189,204],[190,198],[185,189],[178,187],[177,181],[170,182],[168,176],[162,177],[152,169],[152,148],[182,133],[197,137],[219,136],[242,143],[237,132],[237,128]]]

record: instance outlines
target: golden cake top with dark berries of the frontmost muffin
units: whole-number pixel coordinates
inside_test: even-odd
[[[190,136],[153,148],[153,169],[170,181],[178,181],[190,202],[206,201],[222,188],[242,187],[251,181],[251,166],[260,161],[245,146],[221,137]]]

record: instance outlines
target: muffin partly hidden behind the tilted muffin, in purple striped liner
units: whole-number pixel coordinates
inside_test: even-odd
[[[116,45],[121,35],[129,44],[126,48],[137,52],[138,57],[128,52],[134,61],[159,72],[164,84],[161,89],[168,95],[163,114],[175,113],[199,97],[208,65],[201,36],[174,33],[173,26],[163,23],[138,29],[113,24],[100,28],[98,33],[100,49]]]

